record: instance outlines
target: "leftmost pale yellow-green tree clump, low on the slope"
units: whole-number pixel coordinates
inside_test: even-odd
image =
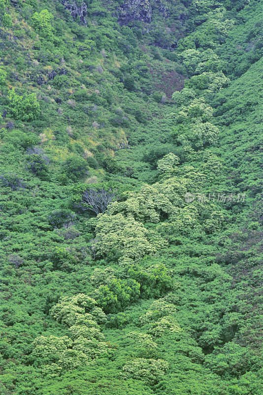
[[[62,370],[94,363],[98,356],[107,354],[108,345],[99,328],[106,315],[96,305],[89,296],[77,294],[60,298],[51,308],[50,315],[69,327],[71,337],[40,336],[35,339],[32,357],[44,358],[47,363],[44,374],[55,377]]]

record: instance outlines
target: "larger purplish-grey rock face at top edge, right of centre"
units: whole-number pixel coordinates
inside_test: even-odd
[[[151,23],[152,21],[152,4],[155,3],[155,8],[168,18],[168,9],[164,5],[163,0],[128,0],[121,5],[121,12],[119,14],[119,23],[126,25],[130,21],[143,21]]]

